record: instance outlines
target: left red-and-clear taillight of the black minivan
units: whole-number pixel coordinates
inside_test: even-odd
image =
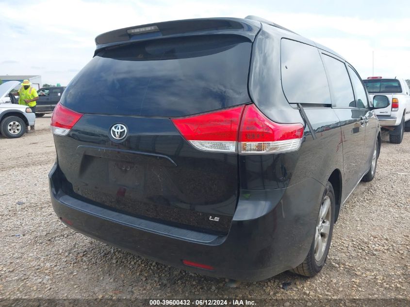
[[[81,118],[82,113],[67,109],[57,103],[53,115],[51,116],[51,131],[55,135],[67,135],[71,128]]]

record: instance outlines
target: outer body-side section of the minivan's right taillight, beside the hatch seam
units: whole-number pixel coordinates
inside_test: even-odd
[[[289,152],[302,144],[302,124],[278,124],[247,105],[239,132],[239,151],[247,154]]]

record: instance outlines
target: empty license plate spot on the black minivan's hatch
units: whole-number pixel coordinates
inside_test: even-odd
[[[110,160],[108,162],[108,174],[110,183],[133,190],[144,188],[145,169],[136,163]]]

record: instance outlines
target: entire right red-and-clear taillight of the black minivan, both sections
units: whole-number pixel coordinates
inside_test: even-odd
[[[172,122],[189,143],[206,151],[289,152],[299,149],[303,137],[302,124],[275,123],[254,104],[174,118]]]

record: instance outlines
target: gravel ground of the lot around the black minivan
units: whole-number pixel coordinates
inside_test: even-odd
[[[400,145],[383,134],[376,178],[360,183],[346,202],[319,275],[285,272],[232,283],[143,259],[64,226],[49,200],[55,159],[49,120],[38,118],[36,132],[20,139],[0,136],[0,299],[410,298],[410,133]]]

